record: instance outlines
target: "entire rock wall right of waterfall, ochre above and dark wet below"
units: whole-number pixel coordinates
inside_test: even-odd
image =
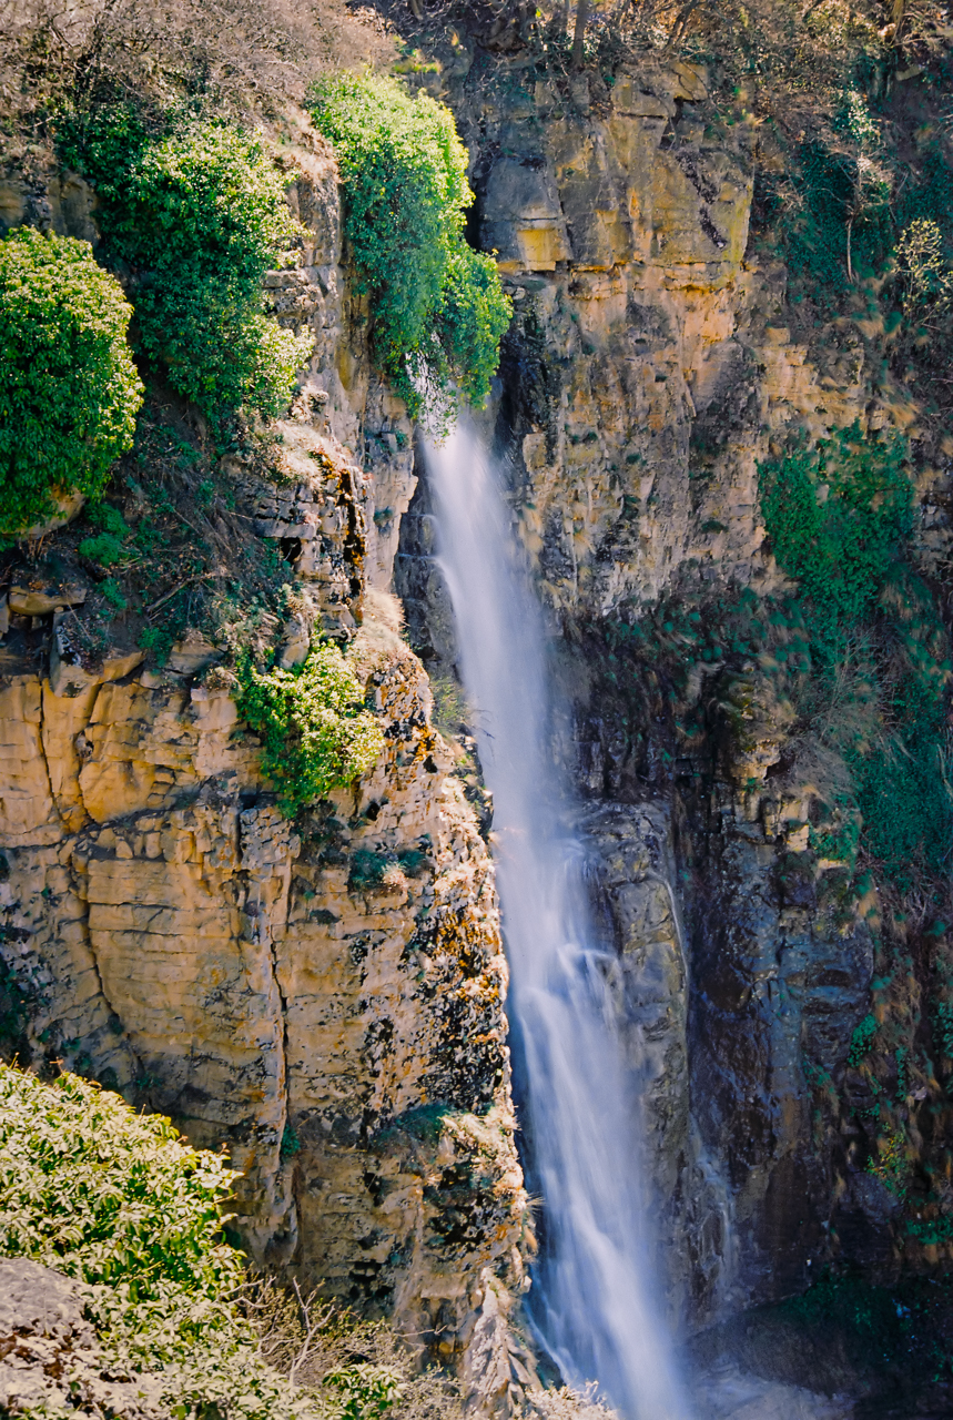
[[[697,1328],[831,1261],[889,1277],[937,1250],[903,1235],[858,1153],[851,1106],[871,1086],[848,1054],[872,1010],[876,888],[846,917],[832,906],[844,863],[808,852],[824,784],[774,663],[712,655],[676,693],[605,628],[666,596],[677,611],[716,591],[729,606],[744,588],[784,594],[758,463],[790,433],[855,420],[916,436],[917,405],[859,312],[793,329],[785,268],[748,236],[757,124],[703,118],[702,67],[560,85],[500,68],[496,85],[454,74],[443,88],[516,311],[481,425],[550,613],[552,753],[614,924],[670,1306]],[[926,565],[949,542],[947,490],[943,462],[920,466]],[[457,649],[435,538],[422,480],[395,585],[446,677]],[[939,1086],[898,1088],[913,1137],[942,1139],[944,1106],[927,1120],[920,1103]]]

